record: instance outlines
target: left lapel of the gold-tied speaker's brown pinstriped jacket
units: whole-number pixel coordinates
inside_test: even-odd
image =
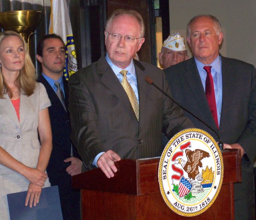
[[[116,77],[111,67],[108,65],[105,56],[103,55],[100,60],[98,60],[97,72],[102,74],[101,82],[111,90],[117,98],[126,106],[126,109],[134,116],[137,120],[130,100],[122,87],[120,81]]]

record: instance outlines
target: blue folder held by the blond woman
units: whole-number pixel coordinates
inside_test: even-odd
[[[39,203],[25,206],[27,191],[7,194],[11,220],[63,220],[58,186],[42,188]]]

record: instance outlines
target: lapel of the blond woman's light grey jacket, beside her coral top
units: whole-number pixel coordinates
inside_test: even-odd
[[[20,100],[20,104],[21,104],[21,100]],[[14,106],[12,105],[12,101],[10,100],[7,94],[4,94],[4,98],[0,99],[0,106],[6,112],[6,115],[8,115],[10,119],[20,128],[20,122],[18,120],[16,111],[14,109]],[[21,118],[21,115],[20,115],[20,118]]]

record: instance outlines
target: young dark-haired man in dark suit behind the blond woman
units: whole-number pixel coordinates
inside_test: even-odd
[[[82,161],[70,140],[68,83],[63,77],[65,48],[62,38],[56,34],[44,36],[38,42],[36,58],[42,64],[38,82],[44,84],[52,103],[49,114],[53,148],[47,173],[51,185],[58,185],[64,220],[80,220],[80,192],[72,190],[71,176],[81,173]]]

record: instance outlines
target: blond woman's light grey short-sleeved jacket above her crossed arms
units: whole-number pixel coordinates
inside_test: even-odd
[[[0,99],[0,146],[26,166],[37,166],[40,152],[37,130],[39,111],[50,105],[41,83],[36,83],[31,96],[20,95],[20,122],[8,94]],[[7,169],[0,165],[1,168]]]

